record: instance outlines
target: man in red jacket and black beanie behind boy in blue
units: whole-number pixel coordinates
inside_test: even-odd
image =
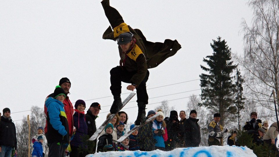
[[[71,82],[67,77],[63,77],[62,79],[60,79],[59,85],[66,94],[66,98],[64,99],[64,101],[62,103],[64,104],[64,110],[67,115],[67,120],[68,120],[68,125],[69,125],[69,135],[72,136],[73,132],[75,131],[74,130],[74,121],[73,121],[74,107],[68,97],[68,94],[70,93],[69,90],[71,88]],[[49,94],[47,96],[47,98],[49,98],[49,97],[53,97],[53,93]],[[47,100],[47,98],[46,98],[46,100]],[[46,105],[44,105],[44,113],[46,116],[47,115]],[[44,132],[47,133],[47,123],[46,123],[46,126],[44,127]]]

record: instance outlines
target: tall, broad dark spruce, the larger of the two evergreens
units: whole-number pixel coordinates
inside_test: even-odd
[[[236,108],[233,106],[233,97],[235,92],[235,84],[233,83],[232,72],[237,67],[231,61],[231,51],[226,45],[225,40],[218,37],[210,43],[213,49],[211,56],[203,58],[203,62],[209,66],[201,68],[209,74],[201,74],[201,100],[200,106],[205,106],[213,110],[213,113],[221,114],[220,124],[224,125],[224,121],[236,113]]]

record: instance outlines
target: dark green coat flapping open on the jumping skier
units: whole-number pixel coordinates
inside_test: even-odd
[[[133,38],[136,39],[135,44],[140,48],[140,50],[144,54],[144,57],[146,58],[146,63],[143,63],[143,59],[142,59],[143,56],[141,55],[142,56],[141,59],[139,61],[135,60],[134,63],[130,64],[132,66],[128,68],[128,71],[135,69],[138,71],[138,73],[140,73],[140,74],[137,73],[138,74],[136,76],[137,78],[133,77],[131,79],[131,82],[135,83],[136,85],[139,85],[139,83],[142,82],[142,80],[146,75],[147,69],[157,67],[165,59],[167,59],[170,56],[173,56],[181,48],[180,44],[176,40],[173,41],[170,39],[166,39],[164,43],[161,42],[154,43],[154,42],[147,41],[139,29],[133,29],[124,23],[124,20],[119,14],[119,12],[115,8],[110,6],[109,0],[102,1],[101,3],[104,8],[105,15],[108,18],[110,25],[113,28],[113,30],[110,26],[107,28],[107,30],[103,34],[103,39],[111,39],[115,41],[118,38],[118,35],[120,35],[121,33],[131,32],[133,33]],[[122,54],[122,50],[119,47],[120,57],[121,54]],[[131,58],[128,60],[134,61]],[[129,66],[127,65],[127,63],[125,64],[126,67]],[[136,83],[135,81],[139,83]]]

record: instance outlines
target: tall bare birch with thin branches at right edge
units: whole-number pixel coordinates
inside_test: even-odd
[[[278,51],[279,51],[279,1],[252,0],[248,2],[254,10],[252,25],[245,20],[243,26],[244,56],[236,56],[245,69],[246,99],[274,110],[270,94],[278,95]],[[278,100],[277,100],[278,103]]]

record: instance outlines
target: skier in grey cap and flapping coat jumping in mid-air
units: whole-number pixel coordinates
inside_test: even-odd
[[[137,89],[138,115],[135,125],[145,121],[145,107],[148,104],[146,81],[149,77],[148,68],[162,63],[169,56],[173,56],[181,47],[178,42],[165,40],[164,43],[149,42],[139,29],[133,29],[124,23],[119,12],[110,6],[109,0],[102,2],[105,15],[113,28],[109,27],[103,34],[103,39],[117,40],[119,45],[120,66],[110,70],[110,90],[114,101],[110,113],[116,113],[121,102],[121,81],[131,83],[127,90]]]

